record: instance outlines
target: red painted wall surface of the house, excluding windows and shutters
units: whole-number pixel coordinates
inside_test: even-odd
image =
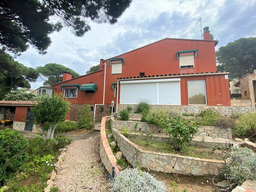
[[[209,39],[209,32],[205,32],[205,38]],[[121,74],[112,74],[110,59],[100,61],[100,70],[88,75],[80,76],[65,82],[53,85],[55,92],[64,92],[61,85],[65,84],[89,84],[96,83],[97,89],[93,95],[87,95],[85,91],[77,91],[77,98],[68,98],[71,104],[102,104],[104,90],[104,73],[106,70],[105,82],[105,104],[110,104],[114,98],[114,89],[111,84],[117,82],[120,77],[139,76],[139,73],[145,73],[145,76],[165,75],[165,74],[186,74],[214,72],[217,70],[215,45],[218,41],[211,40],[189,40],[189,39],[171,39],[165,38],[155,43],[134,49],[130,52],[118,55],[113,58],[123,58]],[[194,67],[179,67],[179,57],[176,52],[198,49],[197,57],[194,54]],[[120,62],[120,61],[118,61]],[[114,61],[112,61],[114,63]],[[66,75],[63,77],[66,77]],[[173,78],[176,78],[173,76]],[[181,105],[188,105],[188,80],[205,80],[207,105],[210,106],[230,106],[229,84],[224,74],[221,75],[201,75],[201,76],[181,76]],[[120,84],[119,84],[120,85]],[[67,87],[70,88],[70,87]],[[119,94],[120,95],[120,89]],[[119,99],[120,101],[120,99]],[[119,103],[119,102],[118,102]]]

